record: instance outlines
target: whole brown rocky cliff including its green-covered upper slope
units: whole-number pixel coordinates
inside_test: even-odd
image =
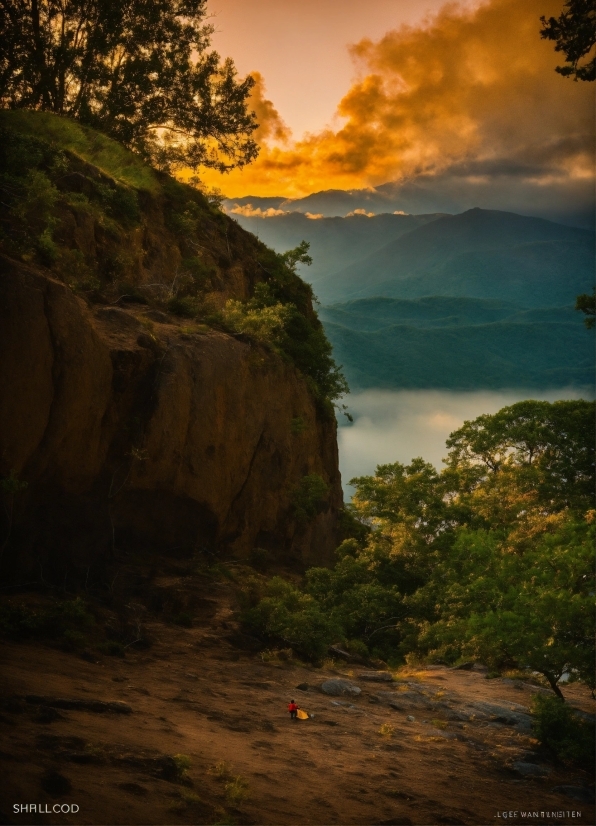
[[[131,184],[134,156],[110,174],[91,133],[73,149],[27,117],[3,124],[21,153],[2,177],[5,575],[80,580],[122,550],[330,561],[342,494],[306,285],[196,190]],[[258,284],[293,313],[283,340],[220,312]]]

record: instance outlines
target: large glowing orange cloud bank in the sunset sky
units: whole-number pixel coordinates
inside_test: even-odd
[[[589,177],[593,89],[555,73],[559,55],[539,34],[540,15],[557,15],[560,5],[452,4],[423,27],[362,40],[351,47],[358,76],[338,106],[343,125],[293,143],[259,76],[258,160],[205,180],[231,197],[299,197],[457,168],[476,182]]]

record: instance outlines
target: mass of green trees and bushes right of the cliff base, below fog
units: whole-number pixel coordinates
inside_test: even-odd
[[[526,668],[594,687],[594,404],[525,401],[465,422],[442,472],[381,465],[356,486],[360,535],[304,589],[253,593],[254,629],[312,657],[341,640],[405,657]]]

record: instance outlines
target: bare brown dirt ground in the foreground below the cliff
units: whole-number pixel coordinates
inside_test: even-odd
[[[149,622],[152,647],[124,659],[2,646],[1,823],[595,822],[593,805],[552,791],[573,786],[589,800],[593,782],[540,755],[525,715],[535,686],[441,666],[377,683],[358,667],[268,660],[238,647],[226,586],[209,590],[210,618]],[[361,693],[327,696],[330,678]],[[594,712],[585,688],[564,691]],[[51,698],[116,701],[131,713]],[[314,717],[291,722],[291,698]],[[517,761],[535,768],[524,776]],[[15,813],[32,803],[37,811]],[[51,813],[56,803],[79,811]]]

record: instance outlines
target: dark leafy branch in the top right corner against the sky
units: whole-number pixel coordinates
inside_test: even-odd
[[[596,56],[580,64],[596,44],[596,9],[593,0],[567,0],[559,17],[541,17],[543,39],[554,40],[556,52],[563,52],[566,65],[556,70],[574,80],[596,79]]]

